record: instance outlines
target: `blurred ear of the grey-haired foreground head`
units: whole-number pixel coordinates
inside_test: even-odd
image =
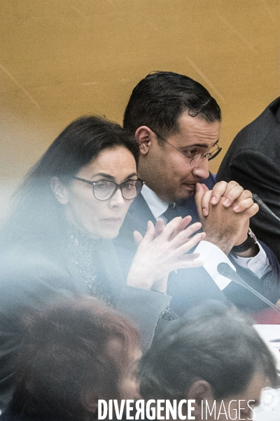
[[[192,415],[195,416],[195,420],[203,420],[202,402],[203,408],[205,408],[205,401],[208,402],[210,408],[214,404],[214,394],[209,382],[206,380],[197,380],[196,382],[193,382],[193,385],[188,389],[188,397],[186,399],[195,400],[195,403],[192,403],[192,406],[195,408]]]

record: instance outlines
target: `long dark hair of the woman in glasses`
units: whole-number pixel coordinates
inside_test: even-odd
[[[57,177],[67,185],[102,150],[118,146],[129,149],[138,160],[137,142],[117,123],[98,116],[83,116],[70,123],[30,169],[13,196],[10,214],[0,230],[0,250],[17,243],[51,244],[55,250],[63,237],[64,218],[50,180]]]

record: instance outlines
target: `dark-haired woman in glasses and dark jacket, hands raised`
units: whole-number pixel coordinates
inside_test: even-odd
[[[185,254],[204,238],[200,223],[176,218],[148,223],[127,279],[111,239],[141,190],[138,145],[116,123],[96,116],[73,121],[31,168],[0,232],[0,408],[13,385],[13,356],[22,309],[92,295],[137,324],[148,347],[169,297],[167,275],[195,267]]]

